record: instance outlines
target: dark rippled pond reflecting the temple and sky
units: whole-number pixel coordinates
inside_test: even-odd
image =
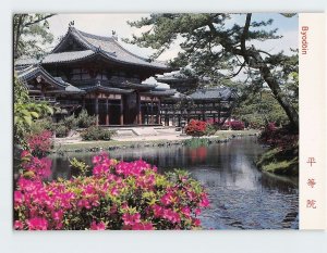
[[[298,178],[259,172],[253,161],[264,151],[256,137],[201,147],[169,146],[110,151],[123,161],[143,159],[159,172],[183,168],[207,189],[210,208],[203,212],[206,229],[298,229]],[[69,157],[90,164],[97,153],[52,154],[51,178],[70,178]]]

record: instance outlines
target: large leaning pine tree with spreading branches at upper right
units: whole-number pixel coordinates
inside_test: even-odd
[[[230,24],[237,15],[245,15],[242,26],[237,22]],[[272,20],[252,21],[251,13],[152,14],[140,21],[129,22],[131,26],[148,29],[125,41],[156,49],[153,58],[159,56],[174,42],[182,41],[182,51],[170,64],[175,67],[187,66],[197,76],[209,78],[214,83],[219,83],[221,78],[233,78],[245,71],[247,79],[244,83],[247,86],[241,98],[246,98],[247,90],[258,91],[266,84],[293,128],[298,129],[298,110],[282,89],[284,77],[296,68],[296,65],[290,67],[290,62],[295,61],[295,56],[288,56],[283,52],[271,54],[249,45],[250,41],[279,39],[277,29],[266,29],[271,23]]]

